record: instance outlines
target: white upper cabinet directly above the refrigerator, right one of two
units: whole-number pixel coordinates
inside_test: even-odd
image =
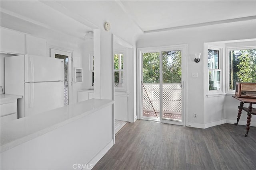
[[[46,39],[26,35],[26,54],[46,57]]]

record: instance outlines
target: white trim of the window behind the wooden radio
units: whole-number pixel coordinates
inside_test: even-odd
[[[227,94],[235,94],[235,90],[230,90],[229,89],[229,84],[230,84],[230,79],[229,79],[229,67],[230,67],[230,63],[229,63],[229,51],[234,51],[234,50],[245,50],[245,49],[256,49],[256,46],[252,46],[252,45],[248,45],[248,46],[234,46],[234,47],[227,47],[226,48],[226,92]]]

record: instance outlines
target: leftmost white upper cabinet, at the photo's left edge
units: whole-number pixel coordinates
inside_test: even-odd
[[[1,53],[25,54],[25,34],[1,27]]]

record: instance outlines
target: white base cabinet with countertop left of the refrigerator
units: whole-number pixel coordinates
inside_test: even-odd
[[[1,94],[1,123],[18,118],[17,99],[22,96]]]

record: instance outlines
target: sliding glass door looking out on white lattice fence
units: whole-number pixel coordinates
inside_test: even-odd
[[[142,119],[182,123],[182,50],[143,51],[141,57]]]

